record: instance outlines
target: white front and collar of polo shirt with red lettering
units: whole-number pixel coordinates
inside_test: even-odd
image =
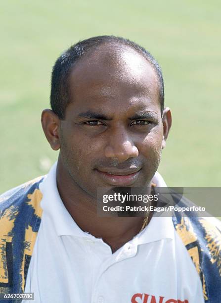
[[[166,186],[159,173],[153,182]],[[43,216],[25,287],[35,293],[30,303],[204,302],[200,278],[171,217],[153,216],[112,253],[102,239],[82,231],[65,208],[56,163],[40,189]]]

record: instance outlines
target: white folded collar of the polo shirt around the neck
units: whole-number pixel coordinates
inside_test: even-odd
[[[92,237],[92,235],[84,232],[76,224],[66,207],[64,206],[56,183],[57,162],[53,164],[48,175],[40,184],[40,190],[43,194],[41,207],[43,208],[43,218],[49,219],[58,236],[70,235],[76,237]],[[156,172],[152,182],[157,187],[166,187],[166,183],[162,176]],[[150,243],[161,239],[174,239],[174,225],[172,217],[153,216],[144,230],[133,238],[133,242],[138,244]],[[98,240],[98,239],[96,239]]]

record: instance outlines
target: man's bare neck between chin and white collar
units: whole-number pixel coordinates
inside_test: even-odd
[[[96,238],[102,238],[111,247],[112,252],[139,233],[143,217],[98,217],[96,199],[74,182],[60,160],[56,176],[61,200],[74,221],[83,231]]]

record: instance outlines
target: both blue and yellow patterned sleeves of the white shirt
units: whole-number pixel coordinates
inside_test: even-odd
[[[0,293],[24,292],[41,223],[39,185],[43,179],[39,177],[0,196]],[[205,302],[221,303],[221,222],[215,219],[211,224],[206,218],[175,213],[173,223],[200,276]]]

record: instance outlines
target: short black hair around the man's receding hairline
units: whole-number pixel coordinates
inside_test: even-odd
[[[156,71],[159,85],[159,98],[161,113],[164,109],[164,80],[162,70],[157,60],[149,51],[139,46],[133,41],[116,36],[97,36],[76,43],[68,50],[65,50],[56,60],[51,74],[51,109],[60,119],[65,118],[65,110],[70,103],[68,78],[75,63],[83,57],[89,50],[96,49],[104,43],[115,43],[125,45],[142,54]]]

